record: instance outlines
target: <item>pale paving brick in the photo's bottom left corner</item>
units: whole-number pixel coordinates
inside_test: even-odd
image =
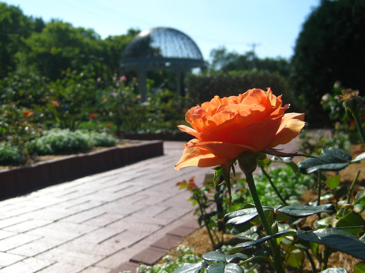
[[[52,260],[29,257],[16,262],[15,264],[1,268],[0,273],[34,273],[54,263],[55,261]]]

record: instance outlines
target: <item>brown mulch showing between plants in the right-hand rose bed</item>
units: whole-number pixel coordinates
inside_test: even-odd
[[[364,147],[362,145],[353,145],[351,147],[351,154],[353,155],[353,158],[356,157],[356,155],[362,153],[364,151]],[[365,169],[365,161],[361,161],[357,164],[351,164],[347,166],[345,169],[339,172],[339,175],[341,177],[341,185],[342,187],[349,188],[351,185],[352,180],[354,179],[354,176],[358,170],[364,170]],[[328,173],[328,175],[334,175],[334,173]],[[355,187],[356,190],[361,190],[365,188],[365,172],[360,173],[360,176],[358,178],[358,182]],[[317,198],[317,190],[316,189],[309,189],[305,194],[303,194],[301,198],[302,204],[307,204],[308,202],[314,201]],[[327,203],[323,202],[323,203]],[[364,214],[364,213],[363,213]],[[363,215],[364,217],[365,215]],[[365,218],[365,217],[364,217]],[[310,219],[308,217],[308,221],[314,221],[314,219]],[[232,242],[231,236],[225,237],[227,245],[234,245]],[[204,253],[214,251],[216,248],[213,247],[210,243],[210,238],[208,236],[207,230],[205,227],[201,227],[200,229],[197,229],[195,232],[191,233],[189,236],[184,238],[184,241],[181,243],[181,245],[187,246],[189,248],[194,249],[194,252],[197,256],[201,257]],[[180,246],[181,246],[180,245]],[[174,255],[176,253],[176,248],[172,249],[168,254]],[[314,259],[315,260],[315,259]],[[307,261],[307,259],[306,259]],[[315,260],[316,261],[316,260]],[[160,261],[162,262],[162,261]],[[353,266],[357,264],[358,262],[361,262],[361,260],[353,258],[350,255],[347,255],[345,253],[341,252],[335,252],[331,254],[329,261],[328,261],[328,268],[330,267],[343,267],[346,268],[348,272],[353,272]],[[304,266],[305,269],[307,269],[307,272],[312,272],[311,265],[309,262],[307,262]],[[320,271],[320,270],[319,270]],[[318,271],[318,272],[319,272]],[[263,266],[260,273],[266,273],[266,272],[273,272],[272,268]],[[298,272],[297,269],[292,269],[290,272]]]

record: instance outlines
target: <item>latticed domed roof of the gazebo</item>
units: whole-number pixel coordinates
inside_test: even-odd
[[[183,32],[167,27],[140,32],[124,50],[122,67],[147,63],[204,66],[203,56],[195,42]]]

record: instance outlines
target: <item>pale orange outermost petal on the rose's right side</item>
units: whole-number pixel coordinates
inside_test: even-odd
[[[301,128],[304,126],[304,114],[288,113],[283,116],[280,127],[276,135],[267,146],[273,148],[279,144],[286,144],[299,135]]]

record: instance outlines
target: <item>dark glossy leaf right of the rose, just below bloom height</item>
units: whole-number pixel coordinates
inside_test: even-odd
[[[322,149],[322,155],[317,155],[317,158],[308,158],[299,163],[299,169],[310,174],[314,171],[339,171],[350,165],[351,155],[344,150],[331,147]]]

